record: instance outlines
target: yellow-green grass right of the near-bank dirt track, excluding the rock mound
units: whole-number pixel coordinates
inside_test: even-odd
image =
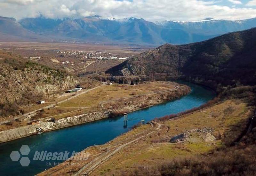
[[[232,107],[234,111],[225,114],[225,112],[227,112],[225,109],[228,107]],[[152,135],[148,139],[141,140],[127,147],[113,156],[109,161],[102,164],[93,172],[93,175],[108,175],[124,167],[124,170],[130,170],[137,165],[144,165],[146,163],[148,165],[158,164],[159,162],[175,157],[194,156],[211,151],[213,148],[216,148],[216,146],[222,145],[222,142],[220,140],[213,142],[198,140],[184,144],[171,144],[153,143],[152,140],[170,139],[172,136],[180,134],[181,132],[191,129],[202,129],[204,127],[214,128],[214,136],[218,136],[219,132],[223,135],[232,125],[244,121],[249,116],[250,112],[250,109],[244,102],[227,100],[215,106],[204,108],[186,116],[164,122],[164,124],[170,126],[169,131],[167,127],[165,127],[159,134]]]

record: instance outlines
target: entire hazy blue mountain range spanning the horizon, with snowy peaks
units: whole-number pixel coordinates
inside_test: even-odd
[[[38,41],[76,40],[108,44],[188,44],[252,27],[256,27],[256,18],[237,21],[207,18],[192,22],[153,23],[142,18],[106,19],[97,15],[80,19],[49,19],[39,16],[19,21],[0,17],[1,36]]]

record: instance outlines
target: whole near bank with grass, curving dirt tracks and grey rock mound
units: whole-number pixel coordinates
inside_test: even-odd
[[[85,149],[88,160],[66,161],[39,175],[124,175],[139,166],[208,153],[222,146],[224,134],[243,124],[251,112],[242,100],[222,101],[169,121],[142,125],[105,145]],[[230,140],[234,137],[230,135]]]

